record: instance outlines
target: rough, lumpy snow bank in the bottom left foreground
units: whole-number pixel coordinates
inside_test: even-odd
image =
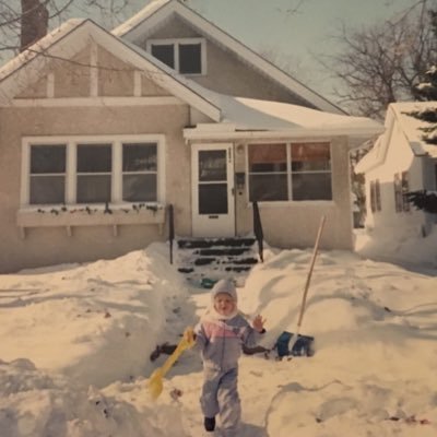
[[[5,437],[133,437],[154,432],[131,404],[49,376],[25,358],[0,362],[0,427]]]

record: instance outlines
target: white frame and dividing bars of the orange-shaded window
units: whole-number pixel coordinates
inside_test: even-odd
[[[292,146],[296,144],[317,144],[317,143],[326,143],[329,145],[329,162],[330,162],[330,169],[329,170],[302,170],[302,172],[293,172],[292,169],[292,164],[293,164],[293,152],[292,152]],[[318,139],[318,140],[307,140],[307,141],[269,141],[269,142],[250,142],[246,144],[246,170],[247,170],[247,198],[249,203],[252,202],[250,200],[250,176],[251,175],[257,175],[257,174],[262,174],[262,173],[257,173],[257,172],[250,172],[250,162],[249,162],[249,147],[251,145],[269,145],[269,144],[274,144],[274,145],[285,145],[285,154],[286,154],[286,170],[285,172],[275,172],[276,174],[280,173],[285,173],[286,174],[286,188],[287,188],[287,199],[285,200],[258,200],[257,202],[260,204],[272,204],[272,205],[277,205],[277,204],[285,204],[285,203],[295,203],[295,204],[302,204],[305,202],[333,202],[333,161],[332,161],[332,141],[329,139]],[[302,200],[296,200],[293,199],[293,174],[329,174],[331,176],[331,198],[330,199],[302,199]]]

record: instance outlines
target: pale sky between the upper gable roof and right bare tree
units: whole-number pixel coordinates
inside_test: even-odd
[[[338,50],[338,42],[332,36],[338,34],[339,24],[344,22],[354,28],[368,26],[414,3],[416,0],[188,1],[190,8],[250,48],[273,51],[279,59],[285,56],[285,63],[291,59],[297,79],[328,98],[333,98],[335,82],[315,57]],[[144,2],[138,4],[141,9]]]

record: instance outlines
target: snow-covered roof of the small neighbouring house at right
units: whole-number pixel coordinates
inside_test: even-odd
[[[374,147],[359,161],[355,172],[366,173],[383,164],[388,149],[392,145],[391,126],[393,123],[402,131],[413,155],[437,157],[437,145],[424,141],[425,132],[421,130],[421,128],[427,127],[429,123],[410,115],[413,111],[423,111],[425,109],[437,110],[437,102],[398,102],[390,104],[386,114],[386,132],[380,135]]]

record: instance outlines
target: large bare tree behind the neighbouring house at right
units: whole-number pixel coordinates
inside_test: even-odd
[[[342,25],[342,49],[323,61],[340,84],[334,93],[351,113],[382,119],[388,104],[416,97],[421,74],[436,60],[430,11],[417,0],[402,14],[362,29]]]

